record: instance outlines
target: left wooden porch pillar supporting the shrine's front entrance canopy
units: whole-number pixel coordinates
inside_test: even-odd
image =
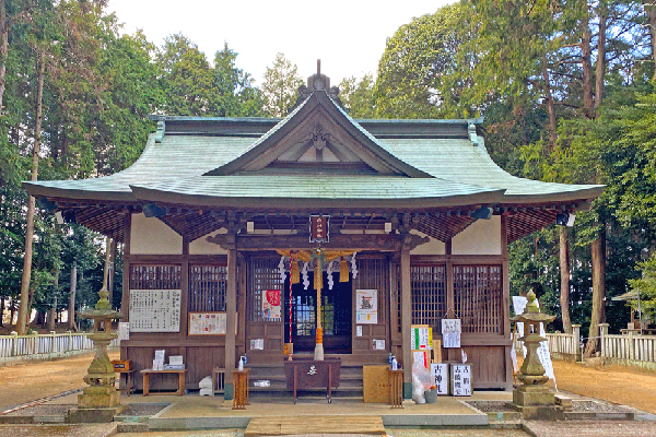
[[[235,317],[237,311],[237,249],[236,233],[227,234],[227,296],[225,310],[225,399],[233,399],[233,378],[236,362]]]

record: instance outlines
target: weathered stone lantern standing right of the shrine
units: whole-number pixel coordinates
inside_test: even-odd
[[[513,390],[513,405],[525,418],[562,418],[562,408],[555,404],[553,391],[544,386],[549,377],[544,375],[544,367],[538,356],[540,342],[547,341],[540,335],[540,323],[553,321],[555,316],[540,312],[532,291],[528,293],[527,298],[524,312],[511,319],[524,323],[523,336],[519,340],[526,346],[526,356],[517,376],[522,385]]]

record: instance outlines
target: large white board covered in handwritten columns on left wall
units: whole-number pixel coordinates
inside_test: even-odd
[[[130,290],[131,332],[179,332],[180,290]]]

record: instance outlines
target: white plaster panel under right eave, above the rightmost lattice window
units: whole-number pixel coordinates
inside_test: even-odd
[[[501,255],[501,216],[477,220],[452,240],[454,255]]]

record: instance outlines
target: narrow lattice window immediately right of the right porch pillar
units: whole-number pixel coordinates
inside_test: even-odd
[[[446,314],[446,267],[412,265],[412,324],[440,328]]]

